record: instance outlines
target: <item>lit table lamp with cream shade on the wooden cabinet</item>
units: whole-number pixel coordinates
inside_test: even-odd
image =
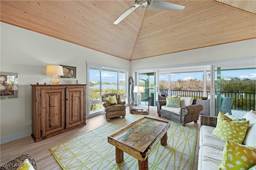
[[[60,65],[47,65],[46,75],[52,75],[50,83],[57,85],[60,83],[60,75],[63,75],[63,68]]]

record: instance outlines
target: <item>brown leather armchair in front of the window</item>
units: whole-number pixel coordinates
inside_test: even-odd
[[[104,98],[108,96],[116,96],[117,105],[109,105],[104,101]],[[125,118],[126,115],[126,106],[125,101],[121,101],[120,95],[117,93],[105,93],[101,96],[102,105],[104,106],[103,115],[106,117],[106,121],[109,121],[110,118],[120,117]]]

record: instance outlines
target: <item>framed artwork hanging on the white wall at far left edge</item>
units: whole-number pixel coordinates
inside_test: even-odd
[[[0,72],[0,98],[18,98],[18,73]]]

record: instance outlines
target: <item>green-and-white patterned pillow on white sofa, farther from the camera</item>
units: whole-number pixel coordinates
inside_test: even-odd
[[[231,140],[242,144],[248,129],[249,121],[232,121],[229,117],[219,112],[216,128],[212,131],[217,137],[224,141]]]

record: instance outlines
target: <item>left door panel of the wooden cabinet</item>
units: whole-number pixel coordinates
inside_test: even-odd
[[[42,89],[42,136],[65,128],[65,89]]]

